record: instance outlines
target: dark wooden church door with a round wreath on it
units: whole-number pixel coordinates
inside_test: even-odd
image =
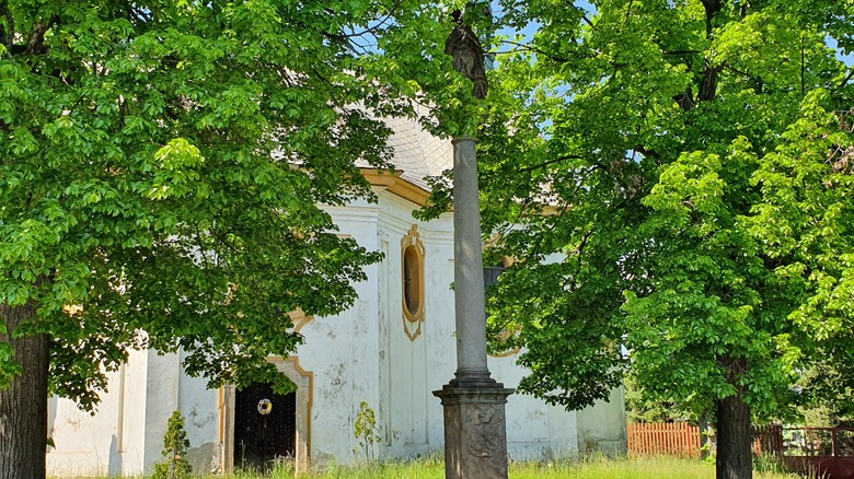
[[[235,469],[268,470],[275,459],[293,457],[296,393],[282,396],[269,384],[255,383],[236,392],[234,407]]]

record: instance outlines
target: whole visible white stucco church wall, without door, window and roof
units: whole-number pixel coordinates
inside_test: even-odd
[[[423,223],[412,218],[415,205],[377,188],[379,203],[327,208],[341,234],[384,259],[366,269],[368,280],[354,284],[358,300],[346,312],[307,323],[293,355],[313,374],[310,416],[311,462],[347,463],[357,458],[354,423],[359,404],[377,412],[381,457],[440,453],[442,410],[431,392],[455,370],[453,224],[451,214]],[[404,331],[401,240],[417,225],[425,245],[425,320],[411,340]],[[493,377],[516,387],[524,371],[516,357],[489,358]],[[109,393],[94,417],[69,401],[51,399],[56,449],[48,454],[57,476],[149,472],[160,460],[166,421],[180,409],[191,440],[189,460],[199,472],[221,471],[224,393],[206,389],[205,379],[182,373],[180,355],[153,351],[130,354],[111,375]],[[625,440],[622,392],[612,402],[580,412],[550,407],[530,396],[512,395],[507,404],[508,453],[517,460],[572,456],[593,442],[618,448]],[[233,418],[233,416],[232,416]],[[228,468],[228,467],[227,467]]]

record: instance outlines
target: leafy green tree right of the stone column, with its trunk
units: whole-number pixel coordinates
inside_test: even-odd
[[[718,477],[750,477],[751,420],[849,354],[854,70],[828,43],[854,48],[854,3],[501,7],[536,30],[504,40],[478,135],[519,390],[578,408],[631,372],[713,413]]]

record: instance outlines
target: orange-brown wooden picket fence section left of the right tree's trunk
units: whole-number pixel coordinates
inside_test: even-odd
[[[628,454],[700,458],[700,428],[685,422],[628,424]]]

